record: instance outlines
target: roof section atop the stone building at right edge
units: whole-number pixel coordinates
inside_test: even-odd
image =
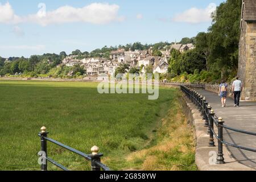
[[[255,0],[243,0],[243,20],[250,22],[256,21],[256,1]]]

